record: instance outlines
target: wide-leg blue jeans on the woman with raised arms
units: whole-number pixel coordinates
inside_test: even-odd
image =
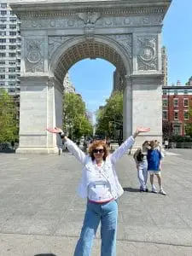
[[[97,204],[87,202],[84,224],[74,256],[90,256],[96,230],[101,221],[101,256],[116,255],[118,204],[116,201]]]

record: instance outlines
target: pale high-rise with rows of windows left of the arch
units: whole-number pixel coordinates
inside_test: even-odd
[[[20,20],[6,0],[0,3],[0,88],[20,95]]]

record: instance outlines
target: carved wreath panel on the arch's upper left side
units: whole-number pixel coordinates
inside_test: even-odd
[[[44,72],[44,39],[25,40],[26,73]]]

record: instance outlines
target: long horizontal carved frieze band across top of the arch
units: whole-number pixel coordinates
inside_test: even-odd
[[[149,16],[116,16],[101,17],[98,12],[78,13],[72,17],[57,17],[56,19],[27,19],[21,20],[21,29],[44,29],[44,28],[78,28],[84,27],[86,24],[95,24],[96,27],[119,27],[119,26],[150,26],[160,25],[162,23],[162,15]]]

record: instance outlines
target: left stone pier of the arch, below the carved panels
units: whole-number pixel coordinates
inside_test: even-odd
[[[47,76],[21,77],[20,145],[16,153],[49,154],[58,152],[55,134],[47,127],[61,126],[62,91],[55,79]]]

